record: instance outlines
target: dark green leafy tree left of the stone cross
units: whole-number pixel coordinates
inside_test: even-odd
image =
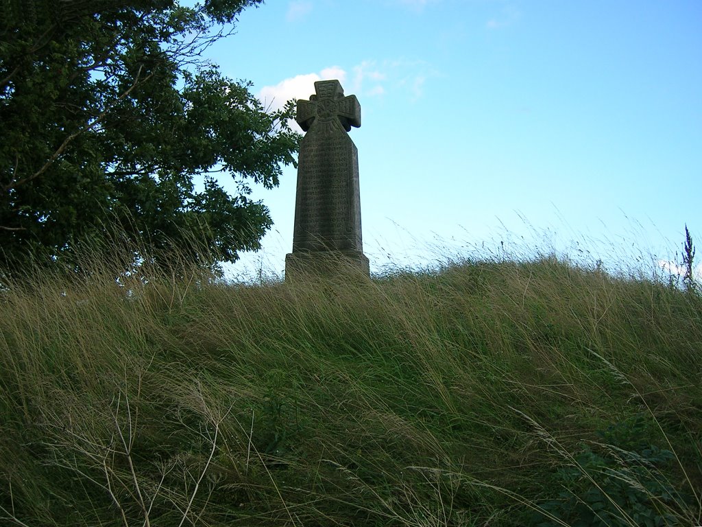
[[[202,53],[262,2],[0,0],[0,262],[55,261],[116,225],[204,265],[260,248],[251,183],[294,164],[292,103],[263,108]]]

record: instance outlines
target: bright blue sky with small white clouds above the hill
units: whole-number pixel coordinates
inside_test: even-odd
[[[665,260],[685,223],[702,247],[702,1],[269,0],[208,54],[266,104],[357,96],[371,271],[501,242]],[[295,188],[256,189],[275,225],[234,273],[282,272]]]

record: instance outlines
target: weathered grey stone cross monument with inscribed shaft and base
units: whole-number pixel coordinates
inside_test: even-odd
[[[347,134],[361,126],[356,96],[338,81],[314,83],[316,95],[298,100],[296,121],[305,137],[298,157],[293,252],[285,275],[334,272],[339,266],[369,274],[363,254],[358,150]]]

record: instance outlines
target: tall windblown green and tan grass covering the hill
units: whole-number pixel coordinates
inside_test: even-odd
[[[0,292],[0,525],[702,523],[699,294],[552,257],[109,270]]]

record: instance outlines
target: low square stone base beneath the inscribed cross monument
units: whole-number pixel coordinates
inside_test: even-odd
[[[369,277],[366,255],[361,251],[300,251],[285,256],[285,280],[343,275]]]

